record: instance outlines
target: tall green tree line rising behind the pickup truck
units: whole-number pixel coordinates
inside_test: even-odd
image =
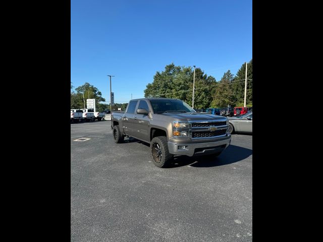
[[[214,77],[196,68],[194,108],[243,106],[245,73],[244,63],[235,76],[228,70],[217,82]],[[192,106],[193,75],[192,67],[175,66],[174,63],[167,65],[163,72],[156,72],[152,83],[148,83],[145,97],[178,98]],[[252,59],[247,64],[246,104],[252,106]]]

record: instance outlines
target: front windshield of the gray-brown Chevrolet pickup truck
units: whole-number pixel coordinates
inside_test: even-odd
[[[181,100],[160,99],[150,100],[154,113],[163,112],[195,112],[188,104]]]

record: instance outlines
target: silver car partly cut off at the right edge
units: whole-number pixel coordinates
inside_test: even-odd
[[[241,116],[228,117],[229,133],[234,132],[251,133],[252,134],[252,112]]]

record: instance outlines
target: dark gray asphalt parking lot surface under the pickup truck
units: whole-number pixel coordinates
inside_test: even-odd
[[[110,125],[71,124],[71,241],[252,241],[252,135],[158,168]]]

